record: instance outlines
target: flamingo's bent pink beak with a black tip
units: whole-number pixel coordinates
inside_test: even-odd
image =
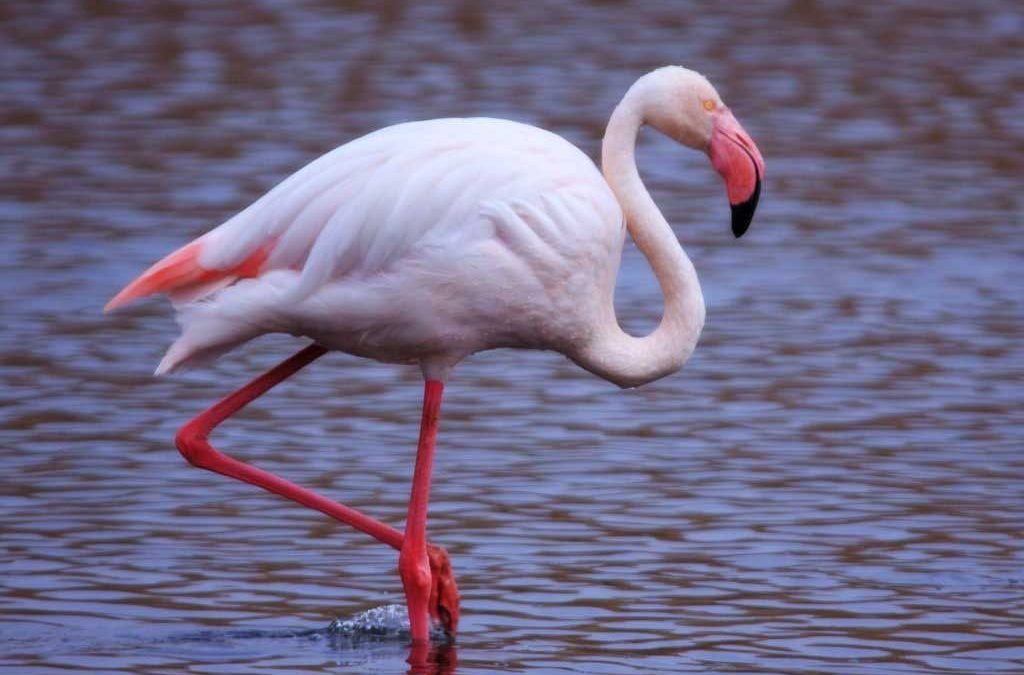
[[[751,226],[761,197],[765,161],[754,139],[743,130],[732,111],[723,107],[712,114],[711,164],[725,180],[732,207],[732,234],[739,239]]]

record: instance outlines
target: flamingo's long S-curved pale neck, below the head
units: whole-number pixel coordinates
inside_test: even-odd
[[[639,100],[638,100],[639,99]],[[618,199],[630,236],[654,270],[665,296],[665,313],[645,337],[624,332],[612,299],[581,366],[623,387],[656,380],[679,370],[693,353],[705,322],[696,270],[666,222],[637,171],[637,133],[643,125],[642,96],[631,90],[611,115],[601,147],[604,178]]]

